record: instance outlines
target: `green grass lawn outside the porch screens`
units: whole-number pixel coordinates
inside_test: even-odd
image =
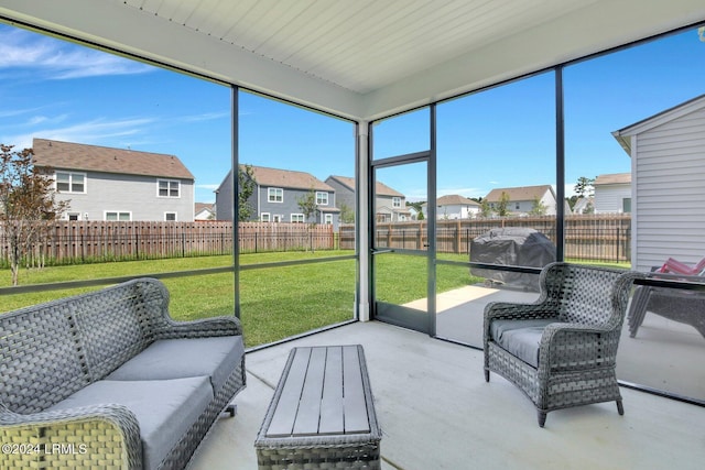
[[[276,261],[312,260],[352,254],[349,251],[260,253],[240,256],[242,265]],[[443,255],[444,260],[467,261],[466,255]],[[426,296],[426,261],[422,256],[394,253],[377,256],[377,293],[386,302],[404,304]],[[21,285],[112,276],[197,270],[231,265],[231,256],[203,256],[170,260],[128,261],[102,264],[45,267],[22,271]],[[240,272],[240,311],[248,347],[276,341],[352,318],[355,302],[355,260]],[[465,266],[437,265],[437,291],[445,292],[480,282]],[[235,281],[232,273],[164,280],[171,295],[171,314],[178,320],[232,315]],[[9,270],[0,271],[0,286],[10,285]],[[54,298],[97,289],[48,291],[3,295],[0,311],[9,311]]]

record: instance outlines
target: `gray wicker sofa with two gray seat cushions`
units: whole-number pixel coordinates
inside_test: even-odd
[[[173,321],[153,278],[1,314],[0,468],[184,468],[243,348],[235,317]]]

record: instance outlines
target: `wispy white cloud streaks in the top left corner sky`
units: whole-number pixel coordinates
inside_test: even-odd
[[[0,28],[0,69],[30,68],[41,78],[68,79],[143,74],[152,67],[88,47],[26,31]]]

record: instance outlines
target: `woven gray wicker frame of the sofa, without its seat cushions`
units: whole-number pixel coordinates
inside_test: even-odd
[[[140,278],[0,315],[0,468],[142,468],[137,418],[122,405],[43,412],[105,378],[155,339],[241,335],[235,317],[176,323],[169,292]],[[160,468],[181,469],[245,387],[245,358]],[[63,447],[62,447],[63,446]]]

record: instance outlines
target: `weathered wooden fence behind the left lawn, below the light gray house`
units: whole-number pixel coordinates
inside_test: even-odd
[[[332,226],[241,222],[240,252],[332,250]],[[0,265],[9,262],[9,244],[0,228]],[[107,222],[57,220],[32,244],[26,264],[141,260],[232,253],[232,223]]]

